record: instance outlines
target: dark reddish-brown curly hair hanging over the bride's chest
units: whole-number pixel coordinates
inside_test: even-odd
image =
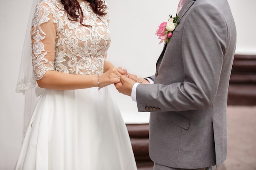
[[[90,3],[92,11],[99,16],[106,15],[106,4],[104,0],[86,0]],[[61,3],[64,5],[65,11],[67,11],[68,18],[72,21],[77,21],[80,18],[80,24],[83,23],[83,11],[80,7],[80,4],[77,0],[61,0]],[[77,13],[78,11],[78,13]],[[87,26],[82,24],[83,26]]]

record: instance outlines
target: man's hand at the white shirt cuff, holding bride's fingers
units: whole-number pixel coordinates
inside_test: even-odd
[[[128,78],[125,75],[122,75],[120,77],[121,82],[116,83],[115,87],[117,88],[119,93],[122,93],[124,95],[131,96],[132,95],[132,87],[136,83],[134,80]]]

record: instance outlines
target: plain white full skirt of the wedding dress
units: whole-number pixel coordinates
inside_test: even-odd
[[[126,125],[108,88],[40,97],[15,170],[136,170]]]

